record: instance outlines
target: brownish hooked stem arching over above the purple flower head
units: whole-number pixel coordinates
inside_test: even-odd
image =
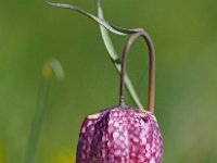
[[[143,30],[132,34],[129,38],[122,60],[122,73],[120,73],[120,90],[119,90],[119,105],[125,105],[124,92],[125,92],[125,74],[126,74],[126,64],[127,64],[127,57],[129,50],[133,43],[133,41],[139,37],[142,36],[146,41],[150,54],[150,75],[149,75],[149,104],[148,110],[154,113],[154,93],[155,93],[155,52],[154,52],[154,45],[152,42],[151,37]]]

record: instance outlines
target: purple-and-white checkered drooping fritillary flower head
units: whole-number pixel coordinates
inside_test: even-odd
[[[77,163],[161,163],[162,154],[162,136],[150,112],[116,106],[82,123]]]

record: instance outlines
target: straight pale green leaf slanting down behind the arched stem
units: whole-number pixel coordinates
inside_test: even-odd
[[[99,16],[99,18],[104,20],[100,0],[98,0],[98,16]],[[118,57],[118,54],[117,54],[117,52],[114,48],[114,45],[113,45],[111,37],[110,37],[110,34],[107,33],[107,30],[104,26],[100,26],[100,30],[101,30],[101,35],[102,35],[102,39],[104,41],[104,45],[105,45],[105,47],[108,51],[108,54],[110,54],[116,70],[118,71],[118,73],[120,73],[120,64],[115,62],[115,61],[119,61],[120,59],[119,59],[119,57]],[[126,29],[126,30],[128,30],[128,29]],[[135,90],[135,88],[131,84],[131,80],[130,80],[130,78],[127,74],[126,74],[126,77],[125,77],[125,84],[126,84],[128,92],[129,92],[130,97],[132,98],[132,100],[135,101],[135,103],[139,108],[143,109],[141,101],[140,101],[140,99],[139,99],[139,97],[138,97],[138,95],[137,95],[137,92],[136,92],[136,90]]]

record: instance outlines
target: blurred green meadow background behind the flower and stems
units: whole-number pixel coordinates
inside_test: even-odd
[[[97,14],[95,1],[72,2]],[[164,163],[217,162],[217,2],[103,0],[108,22],[142,27],[156,49],[155,115]],[[128,37],[111,35],[119,53]],[[133,45],[128,73],[146,104],[148,54]],[[84,117],[118,102],[119,77],[99,26],[43,0],[0,1],[0,163],[24,161],[37,110],[41,67],[56,58],[66,74],[53,77],[38,163],[73,162]],[[133,105],[127,97],[127,103]]]

